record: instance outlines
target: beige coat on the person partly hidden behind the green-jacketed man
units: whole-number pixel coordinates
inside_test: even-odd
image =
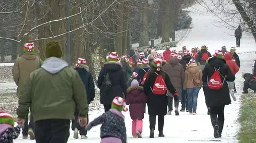
[[[29,74],[36,69],[39,69],[43,61],[36,56],[34,53],[25,53],[21,57],[18,57],[12,69],[13,80],[18,86],[17,96],[20,97],[21,90],[23,85],[25,85],[26,80],[29,77]]]

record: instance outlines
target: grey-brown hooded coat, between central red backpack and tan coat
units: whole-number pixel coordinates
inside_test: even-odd
[[[170,81],[177,93],[180,95],[180,90],[183,86],[185,79],[185,70],[183,66],[179,63],[179,59],[171,57],[169,63],[163,66],[163,70],[169,75]]]

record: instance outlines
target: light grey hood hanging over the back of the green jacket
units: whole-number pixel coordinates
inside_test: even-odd
[[[49,57],[41,66],[45,71],[50,72],[51,74],[55,74],[60,72],[62,69],[66,68],[68,63],[61,58],[58,57]]]

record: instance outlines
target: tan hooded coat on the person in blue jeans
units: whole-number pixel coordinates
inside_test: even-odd
[[[196,63],[189,64],[185,71],[185,81],[183,83],[183,89],[196,87],[193,83],[193,79],[201,80],[201,85],[197,87],[202,87],[202,70]]]

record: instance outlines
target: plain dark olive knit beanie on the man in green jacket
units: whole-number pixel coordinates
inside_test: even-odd
[[[58,41],[49,41],[46,44],[45,48],[45,57],[58,57],[61,58],[62,56],[62,51],[61,51],[61,46],[58,43]]]

